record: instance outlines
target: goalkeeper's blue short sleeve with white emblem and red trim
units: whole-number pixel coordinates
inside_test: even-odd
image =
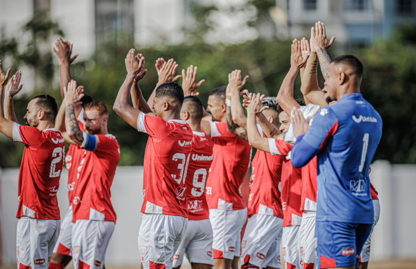
[[[316,149],[321,150],[326,141],[338,130],[338,117],[330,107],[323,107],[312,119],[309,130],[303,140]]]

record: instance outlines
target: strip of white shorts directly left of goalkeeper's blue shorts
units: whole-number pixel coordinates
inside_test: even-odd
[[[316,269],[315,220],[316,211],[303,211],[298,238],[303,269]]]

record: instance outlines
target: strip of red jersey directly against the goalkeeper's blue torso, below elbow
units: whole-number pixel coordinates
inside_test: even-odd
[[[317,159],[313,157],[302,167],[302,198],[300,210],[316,211]]]

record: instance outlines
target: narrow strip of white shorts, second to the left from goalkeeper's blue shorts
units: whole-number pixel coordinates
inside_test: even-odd
[[[286,269],[300,268],[300,253],[298,248],[299,225],[283,227],[282,256]]]

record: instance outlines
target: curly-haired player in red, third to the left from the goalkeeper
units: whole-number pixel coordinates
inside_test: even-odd
[[[227,126],[231,133],[237,128],[246,129],[247,118],[240,103],[239,89],[242,87],[240,70],[229,75],[227,89]],[[275,97],[263,98],[262,104],[268,106],[262,117],[279,128],[279,113]],[[231,110],[231,112],[230,112]],[[261,117],[260,116],[260,117]],[[257,125],[261,136],[266,136]],[[246,132],[246,131],[245,131]],[[245,140],[247,140],[245,136]],[[241,242],[241,268],[281,268],[280,242],[282,239],[283,211],[280,199],[280,178],[283,164],[282,155],[257,150],[251,162],[248,221]]]

